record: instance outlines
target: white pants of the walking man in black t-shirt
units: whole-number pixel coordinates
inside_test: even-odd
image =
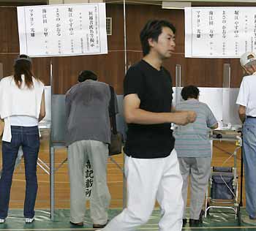
[[[182,177],[176,151],[157,159],[136,159],[126,156],[127,208],[102,231],[132,231],[148,221],[155,201],[161,208],[159,231],[180,231],[182,228]]]

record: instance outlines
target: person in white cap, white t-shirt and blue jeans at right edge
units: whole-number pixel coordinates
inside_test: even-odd
[[[243,221],[256,225],[256,55],[249,52],[240,58],[246,72],[236,103],[243,123],[246,216]]]

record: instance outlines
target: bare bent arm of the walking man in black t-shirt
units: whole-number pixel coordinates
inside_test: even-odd
[[[186,125],[195,121],[196,114],[192,111],[179,113],[152,113],[140,109],[138,94],[124,97],[124,118],[127,124],[165,124]]]

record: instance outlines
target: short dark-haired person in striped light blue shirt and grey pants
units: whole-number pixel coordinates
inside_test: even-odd
[[[193,110],[197,118],[193,124],[178,126],[175,133],[175,149],[178,155],[183,178],[182,197],[184,200],[183,224],[187,223],[186,205],[188,179],[190,176],[190,210],[189,226],[202,222],[202,206],[211,174],[211,143],[208,139],[209,129],[216,129],[218,123],[210,107],[199,102],[199,89],[196,86],[185,86],[181,90],[184,99],[176,105],[176,110]]]

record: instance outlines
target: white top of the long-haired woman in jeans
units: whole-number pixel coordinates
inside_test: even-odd
[[[33,88],[25,86],[24,76],[20,88],[15,84],[13,76],[4,77],[0,81],[0,117],[4,118],[4,134],[2,140],[12,139],[11,125],[37,126],[44,85],[33,77]]]

